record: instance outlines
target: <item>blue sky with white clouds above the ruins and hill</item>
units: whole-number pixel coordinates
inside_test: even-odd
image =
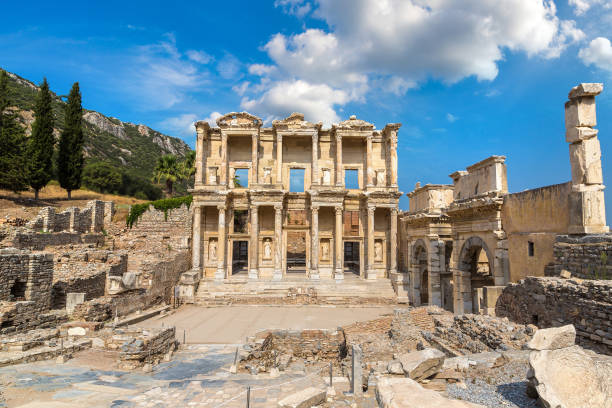
[[[55,4],[52,4],[55,3]],[[193,146],[194,120],[401,122],[400,189],[492,154],[512,192],[570,179],[563,104],[612,77],[611,0],[3,4],[0,67]],[[604,180],[612,88],[597,99]],[[406,208],[407,199],[401,206]],[[608,199],[608,218],[612,199]]]

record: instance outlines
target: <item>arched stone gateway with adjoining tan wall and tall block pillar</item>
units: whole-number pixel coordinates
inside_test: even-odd
[[[580,84],[565,104],[572,181],[509,194],[505,157],[491,156],[451,174],[452,185],[417,185],[408,193],[409,211],[400,215],[400,299],[455,313],[494,313],[504,285],[558,273],[565,265],[560,259],[570,255],[578,265],[606,252],[601,244],[585,247],[594,238],[609,242],[593,236],[608,232],[594,129],[595,96],[602,90],[602,84]],[[576,239],[566,249],[564,243]]]

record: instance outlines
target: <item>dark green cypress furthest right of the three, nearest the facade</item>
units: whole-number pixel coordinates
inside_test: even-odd
[[[57,155],[57,177],[60,186],[71,198],[72,190],[81,188],[83,173],[83,107],[79,83],[72,85],[65,106],[64,130],[60,136]]]

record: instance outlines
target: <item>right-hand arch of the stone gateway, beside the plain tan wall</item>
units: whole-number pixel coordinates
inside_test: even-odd
[[[459,290],[456,291],[459,310],[456,308],[456,311],[478,313],[482,300],[481,288],[494,286],[495,277],[501,272],[495,270],[494,255],[479,236],[472,236],[465,241],[459,253],[455,278],[459,283]]]

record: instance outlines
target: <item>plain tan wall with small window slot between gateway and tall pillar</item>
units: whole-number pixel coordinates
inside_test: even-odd
[[[512,282],[544,276],[553,261],[556,236],[569,228],[570,193],[568,182],[504,196],[502,225],[508,235]]]

